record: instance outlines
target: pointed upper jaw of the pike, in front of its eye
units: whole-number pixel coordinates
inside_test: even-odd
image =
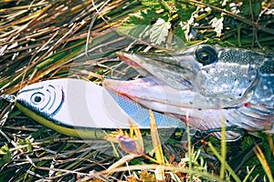
[[[168,86],[178,90],[192,89],[195,77],[193,67],[182,61],[184,55],[168,54],[131,54],[119,52],[117,56],[125,64],[135,68],[142,76],[153,76]],[[192,57],[194,58],[194,57]],[[187,60],[187,59],[185,59]]]

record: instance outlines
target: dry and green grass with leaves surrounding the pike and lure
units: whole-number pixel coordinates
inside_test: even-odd
[[[206,43],[273,52],[270,1],[244,1],[237,14],[231,3],[237,1],[1,1],[0,93],[16,94],[51,78],[100,82],[102,76],[136,76],[115,55],[121,50],[175,51]],[[188,136],[185,147],[177,134],[163,143],[153,126],[151,135],[138,135],[141,155],[121,150],[119,142],[60,135],[4,100],[0,110],[0,181],[273,181],[273,136],[246,135],[234,143]],[[239,152],[254,143],[260,144],[256,155],[233,172],[236,156],[246,157]]]

